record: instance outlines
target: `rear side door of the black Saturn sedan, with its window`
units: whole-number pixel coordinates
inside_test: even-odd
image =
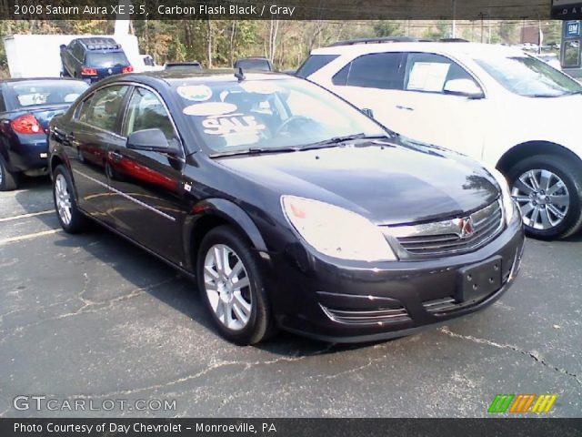
[[[129,86],[104,86],[77,104],[73,117],[58,132],[69,158],[79,206],[111,224],[107,180],[109,147],[125,144],[119,136],[120,108]]]

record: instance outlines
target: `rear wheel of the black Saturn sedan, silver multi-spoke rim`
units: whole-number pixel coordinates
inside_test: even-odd
[[[53,200],[56,217],[61,228],[69,234],[77,234],[86,229],[87,219],[77,208],[73,183],[65,166],[57,166],[53,174]]]

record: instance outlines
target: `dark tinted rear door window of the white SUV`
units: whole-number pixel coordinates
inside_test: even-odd
[[[334,85],[402,89],[401,53],[371,53],[359,56],[332,78]]]

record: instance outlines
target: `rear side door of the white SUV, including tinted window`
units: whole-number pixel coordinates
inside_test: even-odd
[[[398,52],[358,56],[322,85],[360,109],[371,109],[376,120],[397,131],[405,116],[395,99],[404,84],[405,58]]]

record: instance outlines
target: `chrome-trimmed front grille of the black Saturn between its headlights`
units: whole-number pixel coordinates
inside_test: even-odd
[[[460,219],[389,227],[386,233],[394,237],[402,249],[413,256],[453,255],[475,250],[494,239],[503,229],[503,208],[500,201],[474,212],[470,219],[473,232],[468,235],[462,234]]]

